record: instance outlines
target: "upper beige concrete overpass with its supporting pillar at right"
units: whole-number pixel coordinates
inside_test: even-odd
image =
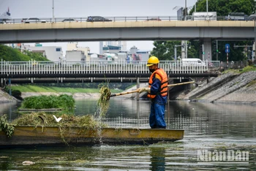
[[[253,20],[113,20],[110,22],[10,23],[0,25],[0,43],[120,40],[200,40],[211,56],[211,40],[249,40]],[[204,59],[204,58],[203,58]]]

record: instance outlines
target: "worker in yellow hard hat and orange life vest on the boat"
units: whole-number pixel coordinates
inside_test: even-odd
[[[138,92],[147,91],[151,99],[151,113],[149,125],[151,129],[165,129],[165,104],[167,103],[168,80],[164,69],[158,67],[159,59],[156,56],[148,58],[148,68],[151,77],[148,81],[148,88],[138,88]]]

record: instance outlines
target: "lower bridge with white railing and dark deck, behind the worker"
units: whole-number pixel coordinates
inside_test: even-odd
[[[1,85],[11,83],[147,83],[151,73],[147,61],[53,62],[1,60]],[[214,66],[208,66],[214,64]],[[203,61],[202,65],[182,66],[181,61],[160,61],[172,79],[217,77],[209,69],[218,69],[219,61]]]

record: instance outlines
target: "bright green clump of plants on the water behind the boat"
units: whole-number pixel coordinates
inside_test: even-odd
[[[61,94],[60,96],[30,96],[26,97],[20,108],[26,109],[50,109],[61,108],[64,110],[74,109],[75,99],[67,94]]]

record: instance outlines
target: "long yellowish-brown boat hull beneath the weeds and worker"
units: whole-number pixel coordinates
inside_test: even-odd
[[[84,129],[57,126],[15,126],[12,137],[0,132],[0,148],[54,145],[139,144],[173,142],[184,137],[184,130],[171,129]]]

